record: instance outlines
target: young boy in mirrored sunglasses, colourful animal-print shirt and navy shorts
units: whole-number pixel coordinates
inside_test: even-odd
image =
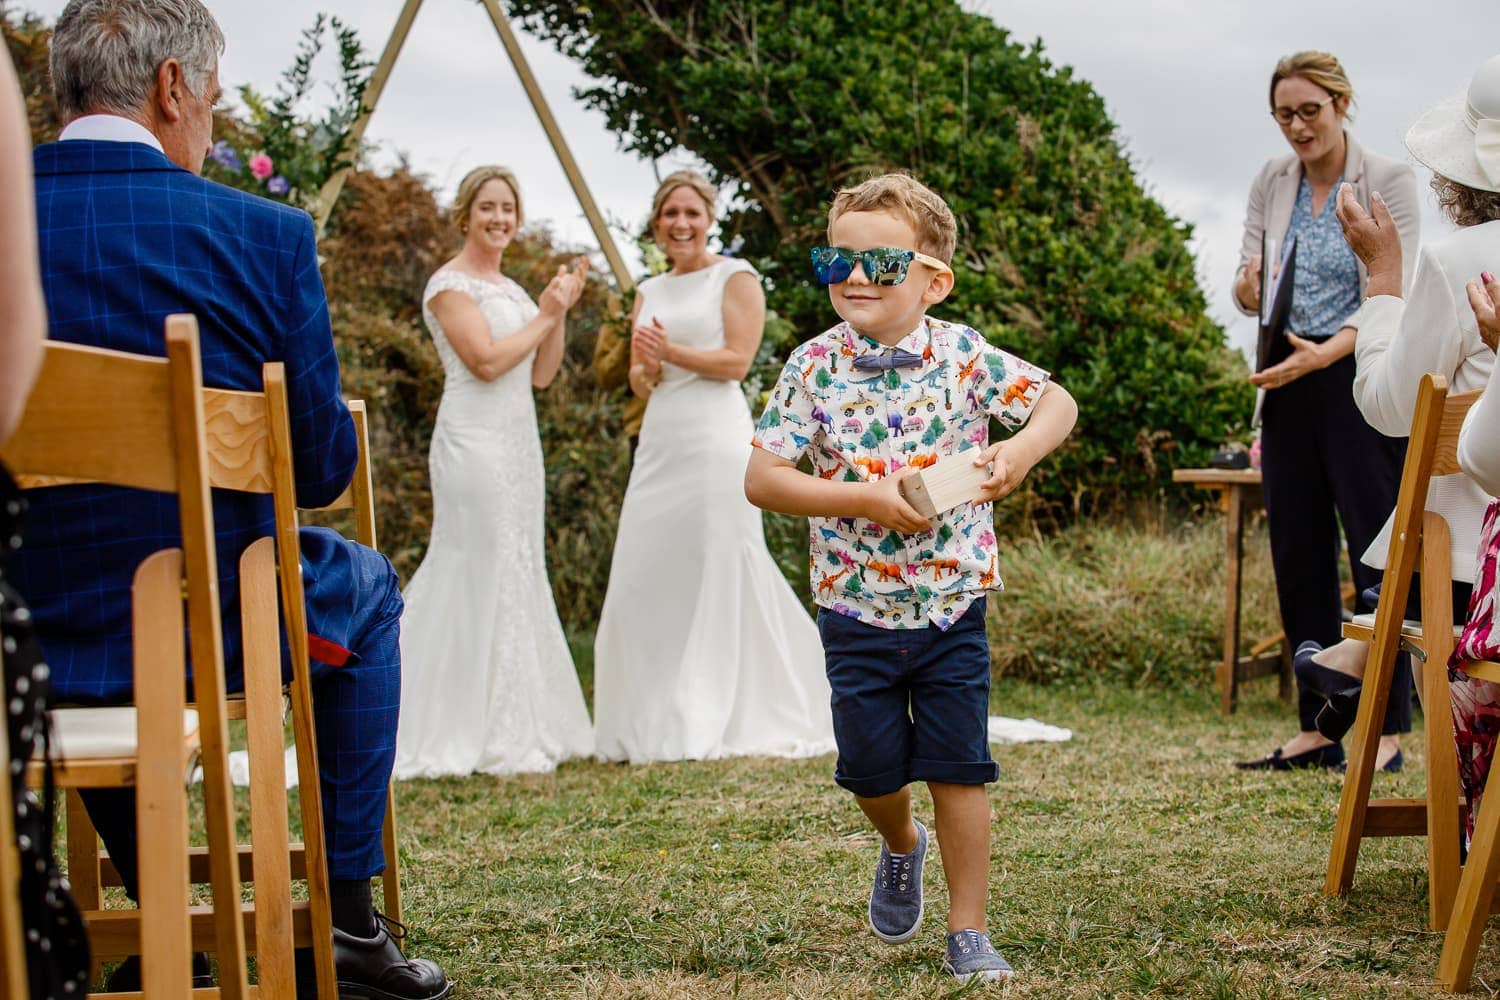
[[[840,190],[828,241],[812,250],[813,274],[843,322],[788,360],[756,429],[746,495],[810,519],[834,780],[884,838],[870,930],[896,945],[921,927],[927,828],[908,786],[926,781],[948,874],[944,969],[964,982],[1006,979],[986,933],[984,786],[999,777],[987,736],[984,594],[1000,586],[990,501],[1068,436],[1077,405],[1047,372],[927,316],[952,289],[957,226],[915,178]],[[988,444],[990,417],[1014,433]],[[976,502],[928,522],[898,483],[958,451],[990,463],[990,475]],[[804,454],[813,475],[796,468]]]

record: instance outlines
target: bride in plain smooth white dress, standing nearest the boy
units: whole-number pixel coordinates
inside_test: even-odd
[[[818,627],[746,501],[753,424],[740,378],[765,319],[744,261],[706,249],[714,189],[668,177],[651,226],[672,270],[640,283],[630,384],[650,396],[594,637],[606,760],[801,757],[832,750]]]

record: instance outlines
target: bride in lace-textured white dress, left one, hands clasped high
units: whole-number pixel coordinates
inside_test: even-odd
[[[471,171],[453,214],[464,249],[422,295],[446,381],[429,454],[432,540],[404,595],[398,778],[550,771],[594,750],[548,583],[531,396],[561,364],[585,264],[558,268],[540,309],[501,276],[522,220],[504,168]]]

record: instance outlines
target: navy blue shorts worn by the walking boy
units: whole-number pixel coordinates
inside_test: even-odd
[[[878,628],[819,609],[818,633],[842,787],[876,798],[912,781],[987,784],[999,777],[990,757],[982,595],[948,631]]]

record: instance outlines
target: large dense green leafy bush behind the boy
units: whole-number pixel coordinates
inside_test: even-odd
[[[1104,100],[954,0],[512,0],[597,79],[579,96],[628,150],[686,147],[742,196],[723,219],[788,336],[832,321],[807,280],[836,189],[906,168],[958,217],[940,315],[1053,370],[1078,430],[1030,489],[1064,513],[1154,496],[1248,415],[1244,364],[1204,315],[1191,231],[1148,196]]]

